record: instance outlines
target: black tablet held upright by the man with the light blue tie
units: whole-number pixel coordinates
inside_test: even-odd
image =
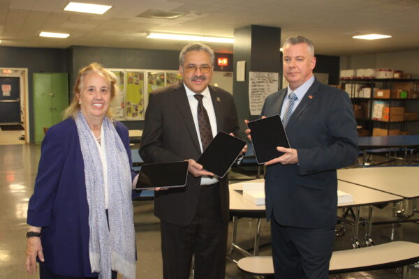
[[[290,147],[279,115],[250,121],[247,126],[250,129],[251,142],[253,142],[258,164],[263,164],[284,154],[277,151],[277,146]]]

